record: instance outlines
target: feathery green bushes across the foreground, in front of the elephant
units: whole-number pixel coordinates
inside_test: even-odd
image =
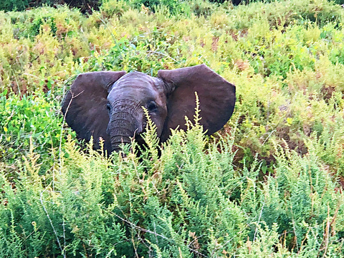
[[[344,195],[315,153],[276,145],[276,172],[260,181],[257,160],[233,166],[233,136],[210,143],[191,126],[161,156],[154,128],[145,139],[141,156],[107,159],[69,136],[45,175],[31,147],[17,180],[1,176],[2,257],[344,254]]]

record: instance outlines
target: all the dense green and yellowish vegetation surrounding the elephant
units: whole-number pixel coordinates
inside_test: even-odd
[[[0,12],[0,257],[343,257],[344,9],[163,3]],[[201,63],[237,89],[211,138],[106,158],[63,121],[78,73]]]

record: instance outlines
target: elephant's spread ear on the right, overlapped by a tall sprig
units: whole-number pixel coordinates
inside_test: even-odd
[[[199,98],[200,124],[207,134],[220,130],[229,120],[235,105],[235,85],[229,83],[205,64],[175,70],[160,70],[160,77],[169,89],[167,118],[162,141],[170,135],[170,128],[178,125],[186,129],[185,116],[193,121],[195,92]]]

